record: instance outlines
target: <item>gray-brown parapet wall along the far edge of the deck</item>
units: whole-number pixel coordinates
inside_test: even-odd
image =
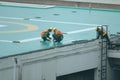
[[[1,0],[2,1],[2,0]],[[119,0],[3,0],[7,2],[120,9]]]

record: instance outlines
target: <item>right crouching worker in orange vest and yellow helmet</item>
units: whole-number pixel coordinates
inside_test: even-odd
[[[63,40],[63,33],[56,28],[53,28],[52,30],[54,32],[53,35],[52,35],[53,36],[53,41],[54,42],[62,41]]]

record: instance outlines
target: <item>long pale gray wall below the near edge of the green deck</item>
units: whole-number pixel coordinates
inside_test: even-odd
[[[109,58],[114,58],[112,64],[120,65],[120,59],[115,59],[116,53],[110,52]],[[108,61],[108,80],[112,80],[111,68]],[[74,43],[0,59],[1,80],[56,80],[57,76],[89,69],[94,69],[95,80],[100,80],[98,41]]]

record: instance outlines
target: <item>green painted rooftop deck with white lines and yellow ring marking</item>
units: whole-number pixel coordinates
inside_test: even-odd
[[[59,46],[96,38],[97,25],[109,25],[111,34],[120,32],[120,10],[0,4],[0,11],[0,58],[54,47],[52,41],[42,42],[40,37],[50,27],[68,33]]]

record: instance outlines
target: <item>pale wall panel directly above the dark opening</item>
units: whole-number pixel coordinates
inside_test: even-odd
[[[70,74],[98,66],[98,53],[85,53],[58,59],[57,75]]]

